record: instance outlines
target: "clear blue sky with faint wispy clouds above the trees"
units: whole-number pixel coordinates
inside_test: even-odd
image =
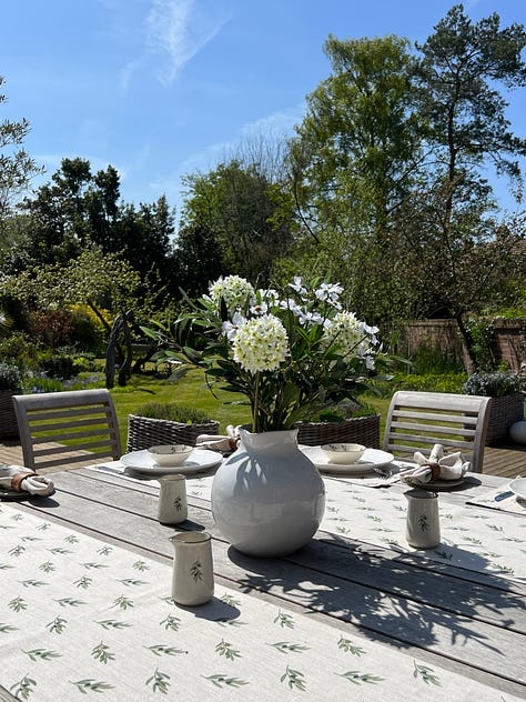
[[[49,180],[63,158],[112,164],[125,202],[165,194],[243,141],[293,133],[330,73],[323,43],[398,34],[424,41],[446,0],[3,0],[0,119],[27,118],[26,148]],[[467,0],[526,24],[526,0]],[[526,138],[526,91],[507,112]],[[504,193],[504,190],[498,189]],[[503,194],[504,199],[504,194]]]

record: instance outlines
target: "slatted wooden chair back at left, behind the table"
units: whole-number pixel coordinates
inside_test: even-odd
[[[43,470],[119,460],[121,439],[108,390],[13,395],[23,463]],[[99,461],[100,462],[100,461]]]

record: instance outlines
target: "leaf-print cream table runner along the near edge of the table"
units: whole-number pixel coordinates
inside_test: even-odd
[[[179,608],[171,565],[0,505],[0,683],[20,700],[516,700],[216,586]]]

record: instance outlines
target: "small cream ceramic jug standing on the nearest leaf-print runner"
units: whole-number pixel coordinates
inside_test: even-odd
[[[214,594],[212,540],[205,531],[186,531],[170,541],[173,556],[172,598],[178,604],[204,604]]]

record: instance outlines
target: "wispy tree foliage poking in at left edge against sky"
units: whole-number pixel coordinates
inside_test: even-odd
[[[0,89],[4,78],[0,76]],[[0,92],[0,104],[7,97]],[[23,149],[22,144],[30,131],[27,119],[18,122],[0,122],[0,241],[2,224],[12,210],[16,199],[28,188],[34,176],[43,172]]]

